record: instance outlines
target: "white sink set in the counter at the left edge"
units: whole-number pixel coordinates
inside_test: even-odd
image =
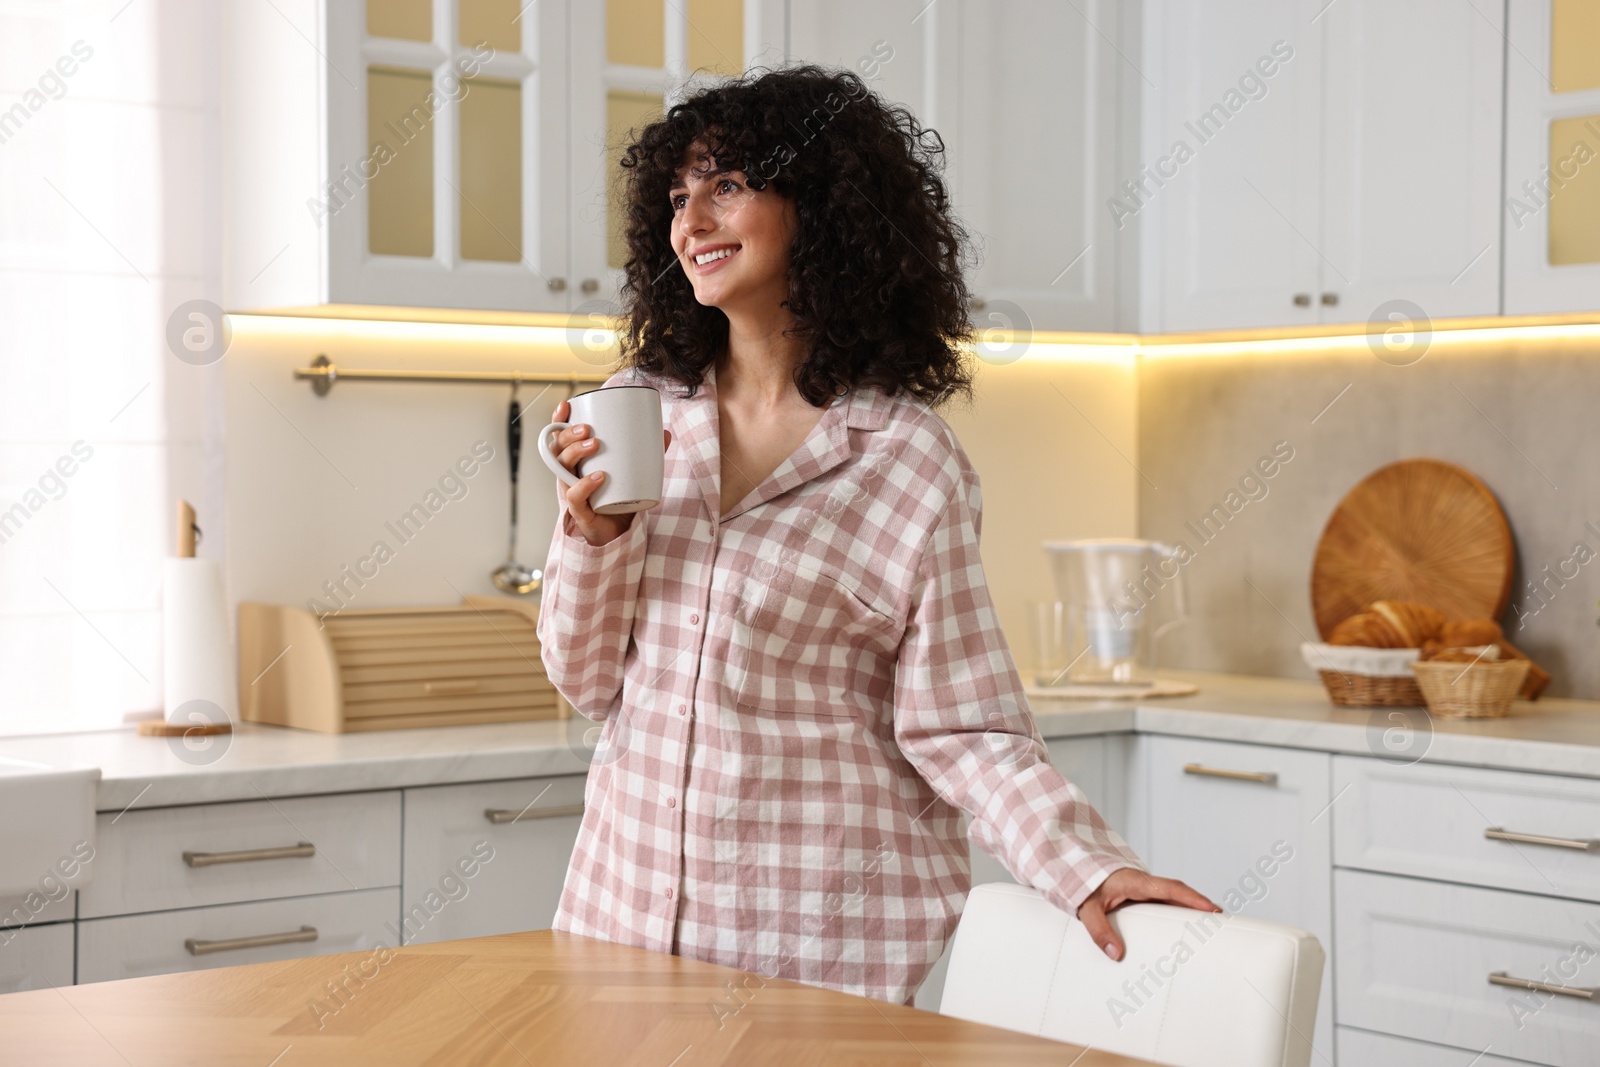
[[[0,757],[0,897],[90,880],[99,776],[99,768]]]

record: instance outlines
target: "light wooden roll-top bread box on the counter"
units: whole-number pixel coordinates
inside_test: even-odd
[[[328,734],[566,718],[536,617],[501,597],[322,617],[240,603],[240,717]]]

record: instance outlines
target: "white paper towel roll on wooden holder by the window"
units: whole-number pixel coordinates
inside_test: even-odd
[[[178,723],[174,715],[189,701],[210,701],[222,709],[227,721],[237,723],[238,669],[227,633],[222,573],[216,563],[202,558],[165,561],[162,638],[166,721]]]

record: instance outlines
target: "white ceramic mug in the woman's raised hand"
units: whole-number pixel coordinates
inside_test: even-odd
[[[571,398],[566,422],[539,430],[539,456],[562,485],[578,485],[590,470],[605,470],[605,482],[589,498],[595,515],[627,515],[661,502],[662,446],[661,394],[650,386],[590,389]],[[600,442],[594,454],[578,461],[578,478],[550,451],[550,437],[579,422]]]

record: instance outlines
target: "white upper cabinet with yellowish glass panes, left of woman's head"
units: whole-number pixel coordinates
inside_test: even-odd
[[[786,6],[229,5],[229,309],[613,312],[629,130],[779,62]]]

